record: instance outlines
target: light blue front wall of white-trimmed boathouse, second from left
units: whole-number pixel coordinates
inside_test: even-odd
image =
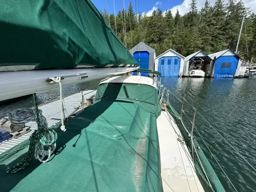
[[[162,57],[158,60],[158,71],[163,77],[178,77],[180,72],[180,58]]]

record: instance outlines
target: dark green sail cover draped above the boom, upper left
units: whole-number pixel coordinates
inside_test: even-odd
[[[0,71],[137,66],[90,0],[2,0]]]

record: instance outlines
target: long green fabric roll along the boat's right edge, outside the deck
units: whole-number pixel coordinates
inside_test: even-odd
[[[191,144],[191,138],[188,136],[188,132],[186,132],[183,124],[182,124],[182,120],[180,119],[180,115],[178,114],[178,112],[176,112],[176,110],[169,104],[167,109],[175,115],[172,115],[173,118],[175,119],[176,123],[178,124],[178,127],[186,141],[186,145],[188,146],[188,149],[190,150],[190,152],[192,151],[192,144]],[[178,117],[177,117],[178,116]],[[210,162],[208,161],[208,159],[206,158],[206,156],[204,155],[204,152],[202,151],[202,149],[200,148],[198,142],[196,141],[196,139],[193,139],[193,144],[196,148],[196,152],[198,153],[199,159],[196,156],[196,152],[193,148],[194,151],[194,164],[195,164],[195,168],[196,168],[196,174],[204,188],[204,190],[206,192],[212,192],[212,188],[214,189],[215,192],[225,192],[218,176],[216,175],[216,173],[214,172]],[[200,161],[202,163],[202,166],[200,164]],[[204,171],[206,172],[206,175],[212,185],[212,188],[209,186],[208,181],[206,179],[206,176],[204,174]]]

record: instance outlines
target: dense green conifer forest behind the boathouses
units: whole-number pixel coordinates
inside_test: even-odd
[[[106,9],[101,10],[100,14],[108,23]],[[242,16],[246,15],[246,35],[244,25],[238,47],[239,55],[246,61],[253,57],[256,62],[256,15],[250,14],[250,10],[245,7],[242,0],[237,3],[236,0],[228,0],[226,5],[222,0],[216,0],[214,6],[210,6],[206,0],[200,12],[197,10],[196,0],[192,0],[190,10],[184,16],[180,15],[178,9],[175,16],[170,10],[167,10],[163,16],[160,9],[155,10],[152,16],[146,16],[145,13],[143,15],[138,13],[136,16],[130,3],[128,10],[120,10],[116,16],[117,35],[123,42],[124,14],[126,42],[129,49],[132,47],[131,40],[133,46],[143,41],[155,48],[157,55],[172,48],[184,56],[198,50],[204,50],[206,53],[227,48],[234,50]],[[110,14],[110,25],[115,31],[113,14]]]

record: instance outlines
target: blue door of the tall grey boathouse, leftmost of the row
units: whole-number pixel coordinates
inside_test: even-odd
[[[149,52],[147,51],[136,51],[133,54],[134,59],[138,62],[138,65],[141,69],[149,68]],[[134,75],[137,75],[137,72],[133,72]],[[141,76],[148,76],[148,73],[141,72]]]

